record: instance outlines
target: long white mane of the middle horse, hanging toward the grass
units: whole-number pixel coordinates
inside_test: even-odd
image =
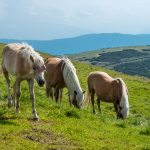
[[[70,97],[72,99],[74,96],[74,91],[76,91],[77,92],[76,99],[78,105],[81,106],[84,97],[79,83],[79,79],[76,74],[76,69],[68,58],[66,57],[62,58],[62,60],[64,60],[65,62],[65,66],[63,69],[63,77],[64,77],[65,84],[69,89]]]

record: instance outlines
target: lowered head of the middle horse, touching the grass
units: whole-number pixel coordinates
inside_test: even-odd
[[[70,102],[76,107],[81,108],[84,99],[84,92],[74,91],[70,93]]]

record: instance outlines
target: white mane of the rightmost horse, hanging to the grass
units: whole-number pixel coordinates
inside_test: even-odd
[[[120,101],[120,107],[121,107],[121,114],[123,118],[127,118],[129,114],[129,102],[128,102],[128,89],[125,84],[125,82],[121,79],[117,79],[120,83],[120,89],[121,89],[121,101]]]

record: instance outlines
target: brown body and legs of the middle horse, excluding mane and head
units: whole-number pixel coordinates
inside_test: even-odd
[[[55,100],[58,101],[59,98],[62,99],[62,90],[65,87],[62,74],[63,61],[60,58],[48,58],[45,65],[44,78],[47,97],[50,96],[53,99],[53,96],[55,96]]]

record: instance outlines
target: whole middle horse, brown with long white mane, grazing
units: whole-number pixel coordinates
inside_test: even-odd
[[[76,75],[76,69],[68,58],[48,58],[45,62],[46,71],[44,78],[46,81],[47,97],[55,97],[56,102],[62,99],[64,87],[69,91],[69,102],[80,108],[83,101],[83,92]],[[54,91],[53,91],[54,89]]]

